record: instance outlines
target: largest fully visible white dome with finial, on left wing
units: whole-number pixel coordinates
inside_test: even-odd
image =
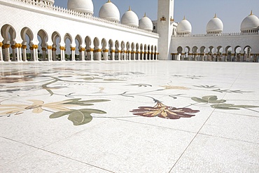
[[[99,18],[120,22],[120,11],[110,0],[99,11]]]

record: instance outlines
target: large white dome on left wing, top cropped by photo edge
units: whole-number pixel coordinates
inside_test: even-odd
[[[94,13],[94,4],[92,0],[69,0],[67,1],[67,8],[72,11],[79,11],[81,13]]]

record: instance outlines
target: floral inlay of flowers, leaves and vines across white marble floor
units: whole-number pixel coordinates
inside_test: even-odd
[[[179,80],[197,83],[206,76],[175,74],[163,78],[162,83],[143,83],[138,81],[138,78],[146,77],[143,72],[72,67],[50,67],[47,70],[31,67],[29,70],[3,71],[0,75],[0,118],[22,116],[25,112],[48,113],[51,119],[66,117],[73,125],[85,125],[97,117],[94,114],[98,118],[118,117],[112,114],[117,109],[113,104],[114,98],[122,100],[121,106],[124,105],[124,99],[139,103],[135,109],[129,108],[125,115],[120,115],[120,118],[195,118],[202,112],[200,106],[206,105],[211,109],[246,109],[255,113],[258,113],[259,107],[257,104],[237,104],[228,99],[218,99],[218,95],[224,93],[239,95],[251,93],[250,91],[226,90],[217,85],[174,85],[174,81]],[[209,92],[211,95],[195,97],[188,92],[197,95]],[[141,103],[141,98],[146,103]],[[158,98],[165,98],[167,101]],[[181,106],[174,106],[176,102]],[[132,116],[127,116],[127,113]]]

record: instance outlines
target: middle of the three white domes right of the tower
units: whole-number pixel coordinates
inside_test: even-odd
[[[223,32],[223,22],[215,14],[215,17],[207,24],[207,34],[220,34],[221,32]]]

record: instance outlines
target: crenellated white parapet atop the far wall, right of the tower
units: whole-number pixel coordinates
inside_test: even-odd
[[[186,35],[173,35],[172,37],[204,37],[204,36],[248,36],[248,35],[259,35],[259,32],[253,33],[221,33],[221,34],[186,34]]]

